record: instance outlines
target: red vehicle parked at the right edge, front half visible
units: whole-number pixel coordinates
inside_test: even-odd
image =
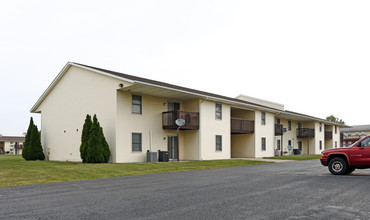
[[[361,138],[350,147],[325,150],[321,153],[320,161],[334,175],[370,168],[370,136]]]

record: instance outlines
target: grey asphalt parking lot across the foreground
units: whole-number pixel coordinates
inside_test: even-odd
[[[0,219],[369,219],[369,182],[310,160],[8,187]]]

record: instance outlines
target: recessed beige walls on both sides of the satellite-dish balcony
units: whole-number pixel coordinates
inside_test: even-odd
[[[133,114],[132,95],[142,96],[142,114]],[[116,162],[145,162],[146,152],[150,150],[150,132],[152,133],[151,151],[168,150],[168,136],[176,136],[176,130],[162,128],[162,112],[167,111],[168,102],[180,103],[180,110],[199,110],[199,100],[168,100],[146,94],[117,91],[117,137]],[[132,152],[132,133],[142,134],[142,151]],[[199,159],[199,130],[180,130],[180,160]]]

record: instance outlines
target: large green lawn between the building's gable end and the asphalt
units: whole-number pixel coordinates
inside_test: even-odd
[[[0,155],[0,187],[264,163],[266,162],[231,159],[180,163],[83,164],[77,162],[25,161],[21,155]]]

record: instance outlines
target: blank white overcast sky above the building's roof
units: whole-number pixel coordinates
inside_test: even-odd
[[[0,1],[0,134],[68,61],[370,124],[370,1]]]

